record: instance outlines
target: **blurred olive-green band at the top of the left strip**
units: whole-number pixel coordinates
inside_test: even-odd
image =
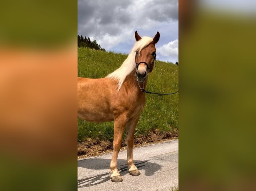
[[[76,38],[77,2],[3,1],[0,43],[52,46]]]

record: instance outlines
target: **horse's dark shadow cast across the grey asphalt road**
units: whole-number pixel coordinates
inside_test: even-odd
[[[91,158],[85,159],[82,161],[78,161],[78,167],[87,168],[87,169],[109,169],[111,159],[100,159],[100,158]],[[118,159],[118,170],[121,176],[128,173],[128,165],[126,164],[126,160]],[[145,170],[145,176],[152,176],[156,171],[161,169],[161,165],[149,162],[148,160],[139,161],[135,160],[134,164],[138,168],[138,170]],[[97,184],[101,184],[110,180],[110,173],[99,174],[96,176],[88,177],[85,179],[78,180],[78,188],[94,186]]]

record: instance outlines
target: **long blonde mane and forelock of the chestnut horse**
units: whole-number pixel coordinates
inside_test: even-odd
[[[123,64],[109,74],[107,78],[114,79],[118,81],[118,91],[120,90],[122,84],[124,83],[126,77],[131,74],[135,70],[135,55],[136,51],[140,53],[140,51],[153,42],[153,38],[150,37],[142,37],[139,41],[135,43],[133,46],[131,53],[128,55],[127,59],[123,62]]]

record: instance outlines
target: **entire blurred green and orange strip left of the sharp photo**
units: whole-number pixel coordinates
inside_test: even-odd
[[[1,190],[77,187],[77,2],[0,5]]]

